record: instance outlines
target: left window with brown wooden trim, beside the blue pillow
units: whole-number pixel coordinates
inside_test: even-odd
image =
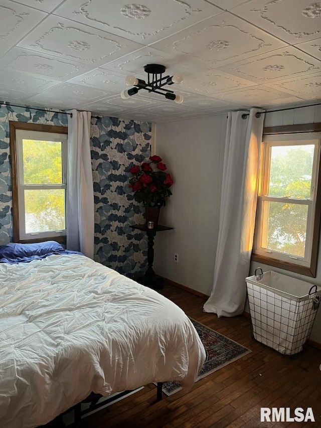
[[[66,235],[67,128],[10,125],[14,240],[57,240]]]

